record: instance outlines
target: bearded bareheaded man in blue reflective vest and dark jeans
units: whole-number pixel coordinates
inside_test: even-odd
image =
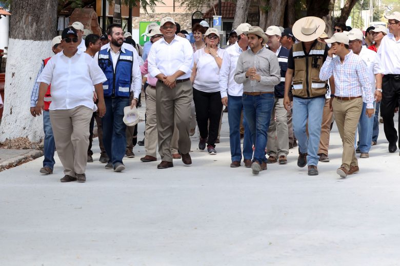
[[[126,153],[126,125],[123,122],[124,107],[137,106],[142,89],[142,75],[135,53],[123,47],[124,32],[121,25],[111,24],[107,29],[110,45],[95,56],[107,77],[104,98],[107,114],[103,122],[103,142],[109,158],[106,169],[121,172],[125,169],[122,161]],[[131,46],[132,47],[132,46]],[[129,97],[133,92],[132,101]]]

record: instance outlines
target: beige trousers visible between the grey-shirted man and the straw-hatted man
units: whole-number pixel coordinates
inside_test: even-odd
[[[268,128],[267,153],[275,158],[287,156],[289,153],[288,112],[283,100],[283,98],[275,98]]]

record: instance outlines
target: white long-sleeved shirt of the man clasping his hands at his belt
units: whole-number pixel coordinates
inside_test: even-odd
[[[152,77],[161,73],[171,76],[181,70],[185,74],[178,79],[190,78],[193,69],[193,48],[186,38],[177,35],[171,43],[162,38],[151,46],[147,61]]]

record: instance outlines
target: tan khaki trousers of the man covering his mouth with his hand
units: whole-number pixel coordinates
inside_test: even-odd
[[[349,170],[350,166],[358,165],[357,158],[355,157],[354,138],[358,120],[363,109],[363,98],[356,98],[349,101],[334,98],[332,108],[337,129],[343,143],[342,165]]]

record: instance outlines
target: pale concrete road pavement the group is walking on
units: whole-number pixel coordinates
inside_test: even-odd
[[[226,114],[218,154],[197,145],[193,165],[162,170],[136,146],[126,171],[90,163],[84,184],[60,183],[58,158],[52,175],[43,158],[0,172],[0,265],[398,265],[400,158],[382,124],[347,179],[336,128],[317,176],[297,149],[258,176],[230,168]]]

